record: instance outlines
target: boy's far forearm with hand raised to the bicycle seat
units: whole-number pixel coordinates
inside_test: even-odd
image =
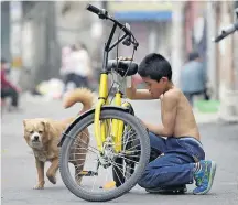
[[[137,89],[133,76],[131,77],[131,86],[127,88],[127,97],[129,99],[155,99],[148,89]]]

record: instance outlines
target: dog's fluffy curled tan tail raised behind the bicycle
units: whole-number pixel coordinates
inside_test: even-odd
[[[95,99],[95,94],[87,88],[76,88],[68,91],[64,96],[63,106],[64,108],[69,108],[76,102],[83,104],[83,109],[80,112],[84,112],[93,107]]]

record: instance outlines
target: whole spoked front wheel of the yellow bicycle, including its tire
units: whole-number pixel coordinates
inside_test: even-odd
[[[85,201],[106,202],[123,195],[138,183],[149,162],[150,140],[145,128],[137,117],[121,110],[101,110],[100,121],[107,122],[108,127],[104,143],[105,152],[101,154],[93,134],[94,115],[93,112],[82,119],[69,131],[61,149],[60,171],[64,184],[73,194]],[[122,120],[125,127],[130,128],[129,133],[132,130],[131,139],[136,139],[137,144],[133,148],[130,147],[130,150],[120,152],[113,150],[113,137],[110,136],[113,119]],[[122,145],[122,148],[126,147],[126,144]],[[130,174],[125,173],[120,168],[121,164],[117,164],[118,158],[136,164]],[[116,185],[115,174],[118,176],[126,174],[125,182],[121,182],[119,186]]]

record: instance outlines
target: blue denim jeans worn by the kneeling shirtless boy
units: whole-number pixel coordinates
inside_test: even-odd
[[[202,143],[192,137],[164,139],[152,132],[149,136],[152,152],[163,154],[148,164],[138,184],[144,188],[192,184],[194,163],[205,159]]]

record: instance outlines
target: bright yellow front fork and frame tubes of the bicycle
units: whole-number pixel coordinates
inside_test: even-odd
[[[96,105],[95,109],[95,137],[97,141],[97,147],[100,152],[104,152],[104,142],[106,140],[106,137],[108,134],[107,130],[107,120],[100,122],[100,110],[104,105],[108,105],[108,100],[106,100],[108,96],[108,74],[100,74],[100,84],[99,84],[99,100]],[[115,96],[115,105],[116,106],[122,106],[127,107],[128,104],[125,102],[121,105],[121,94],[119,91],[116,93]],[[122,132],[123,132],[123,121],[112,119],[112,129],[111,134],[113,136],[113,144],[115,144],[115,151],[120,152],[121,151],[121,144],[122,144]]]

